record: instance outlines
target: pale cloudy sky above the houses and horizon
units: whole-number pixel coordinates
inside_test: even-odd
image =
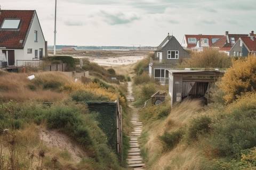
[[[249,33],[256,30],[255,0],[57,0],[57,44],[157,46],[168,32]],[[53,44],[54,0],[1,0],[4,10],[36,10]]]

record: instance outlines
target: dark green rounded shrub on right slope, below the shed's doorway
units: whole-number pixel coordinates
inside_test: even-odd
[[[207,116],[194,118],[188,127],[188,140],[197,140],[199,135],[209,133],[211,123],[211,118]]]

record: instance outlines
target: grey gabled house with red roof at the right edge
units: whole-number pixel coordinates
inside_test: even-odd
[[[252,31],[249,37],[240,37],[229,52],[230,56],[248,56],[256,55],[256,35]]]

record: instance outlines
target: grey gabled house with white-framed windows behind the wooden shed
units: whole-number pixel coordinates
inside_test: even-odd
[[[174,36],[167,36],[150,58],[149,76],[161,83],[168,80],[168,70],[177,66],[182,60],[189,58],[189,53],[182,48]]]

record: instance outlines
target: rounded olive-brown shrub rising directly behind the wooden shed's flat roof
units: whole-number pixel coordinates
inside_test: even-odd
[[[218,49],[206,48],[203,52],[191,53],[190,60],[181,64],[183,67],[195,68],[228,68],[231,65],[231,58]]]

